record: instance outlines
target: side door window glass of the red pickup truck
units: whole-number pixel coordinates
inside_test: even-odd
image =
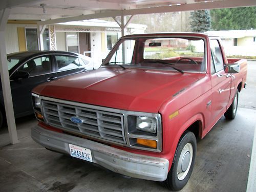
[[[221,48],[217,39],[210,40],[211,62],[214,63],[215,71],[219,72],[224,69],[224,62]]]

